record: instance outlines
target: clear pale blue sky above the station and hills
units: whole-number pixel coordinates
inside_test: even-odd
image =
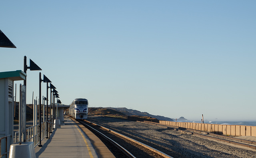
[[[256,1],[2,1],[0,72],[39,72],[63,104],[126,107],[189,120],[256,120]],[[17,92],[22,81],[15,81]],[[18,94],[17,94],[18,95]],[[42,83],[46,96],[46,83]],[[50,96],[49,96],[50,98]],[[18,99],[18,97],[17,97]]]

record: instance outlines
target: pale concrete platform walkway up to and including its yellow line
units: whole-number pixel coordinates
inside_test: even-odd
[[[37,158],[98,158],[88,136],[70,118],[64,118],[65,126],[54,129],[50,139],[42,140],[36,147]]]

